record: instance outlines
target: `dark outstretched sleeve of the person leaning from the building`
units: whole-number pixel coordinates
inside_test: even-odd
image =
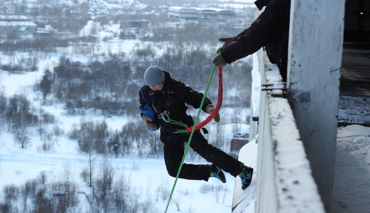
[[[240,58],[244,58],[258,51],[260,48],[272,41],[276,37],[275,32],[281,27],[281,19],[285,16],[285,4],[268,5],[258,18],[238,36],[235,41],[221,51],[221,55],[229,64]]]

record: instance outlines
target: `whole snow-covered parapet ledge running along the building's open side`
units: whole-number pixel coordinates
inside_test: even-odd
[[[262,50],[258,60],[264,65],[259,68],[262,87],[256,212],[324,213],[292,110],[283,97],[285,85],[279,70]]]

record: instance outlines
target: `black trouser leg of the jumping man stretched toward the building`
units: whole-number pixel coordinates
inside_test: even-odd
[[[186,135],[185,139],[188,141],[189,135]],[[234,177],[242,172],[242,162],[209,144],[199,131],[194,132],[190,147],[208,162],[213,163]]]

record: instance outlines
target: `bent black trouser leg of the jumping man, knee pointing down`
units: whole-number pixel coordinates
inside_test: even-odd
[[[181,148],[174,143],[165,143],[163,151],[167,172],[170,176],[176,177],[182,157],[184,156],[184,148]],[[210,167],[207,164],[194,165],[184,163],[182,165],[179,178],[208,181],[210,173]]]

